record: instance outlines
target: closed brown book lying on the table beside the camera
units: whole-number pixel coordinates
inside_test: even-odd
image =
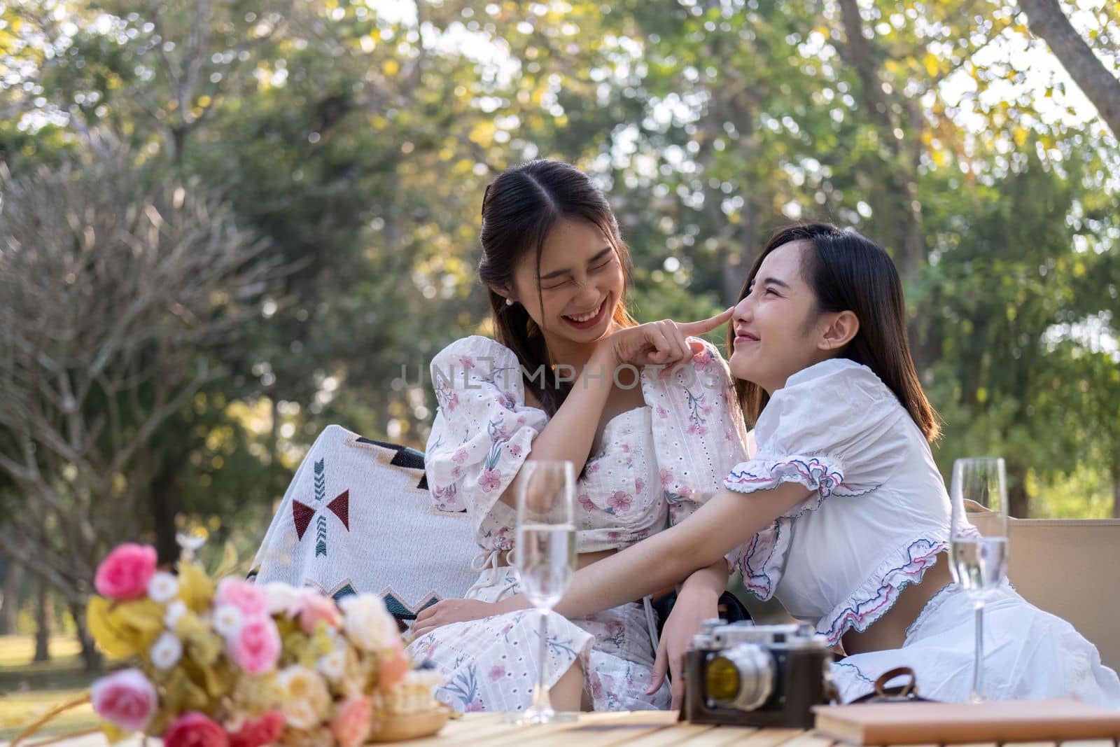
[[[1120,711],[1076,700],[815,706],[816,730],[853,745],[1061,741],[1120,737]]]

